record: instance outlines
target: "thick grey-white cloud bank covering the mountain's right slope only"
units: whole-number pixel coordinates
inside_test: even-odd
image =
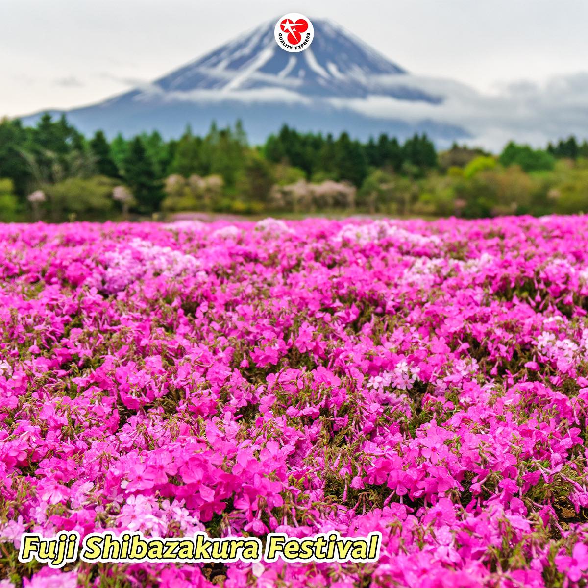
[[[388,85],[397,83],[393,76]],[[459,82],[403,76],[403,85],[446,97],[439,105],[373,95],[365,99],[330,99],[338,108],[368,116],[406,121],[433,119],[472,133],[469,141],[494,151],[515,138],[535,146],[576,135],[588,136],[588,73],[557,76],[545,83],[520,81],[480,93]]]

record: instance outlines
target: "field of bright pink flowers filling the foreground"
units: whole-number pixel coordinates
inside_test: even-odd
[[[588,217],[0,228],[0,588],[576,587]],[[382,533],[374,563],[21,534]]]

